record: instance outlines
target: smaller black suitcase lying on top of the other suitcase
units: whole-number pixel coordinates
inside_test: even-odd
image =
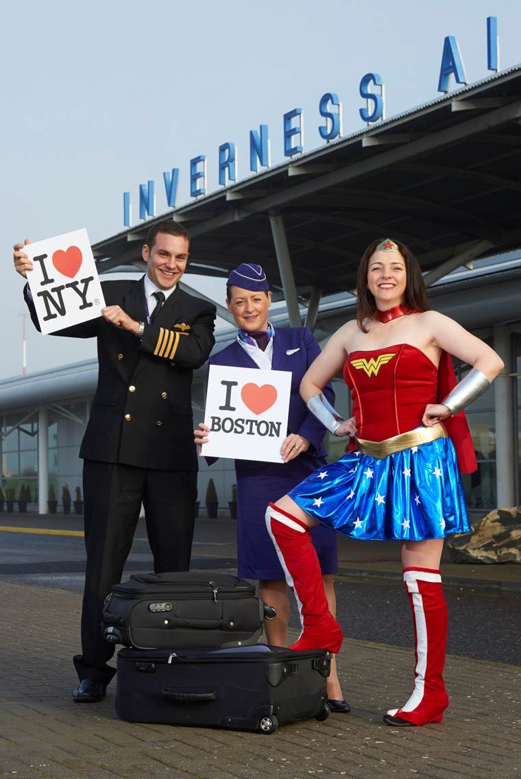
[[[104,636],[136,649],[245,647],[276,614],[245,579],[223,573],[144,573],[115,584],[103,612]]]

